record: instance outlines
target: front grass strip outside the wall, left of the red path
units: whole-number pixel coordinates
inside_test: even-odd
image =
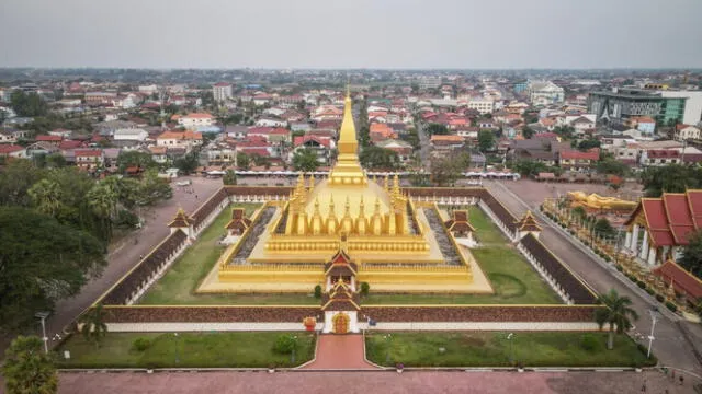
[[[292,355],[273,351],[281,335],[297,336],[295,362]],[[143,351],[134,340],[147,338],[150,346]],[[70,359],[63,360],[64,350]],[[109,333],[99,348],[75,335],[59,349],[59,368],[267,368],[295,367],[314,357],[315,336],[307,333]],[[178,362],[176,357],[178,356]]]

